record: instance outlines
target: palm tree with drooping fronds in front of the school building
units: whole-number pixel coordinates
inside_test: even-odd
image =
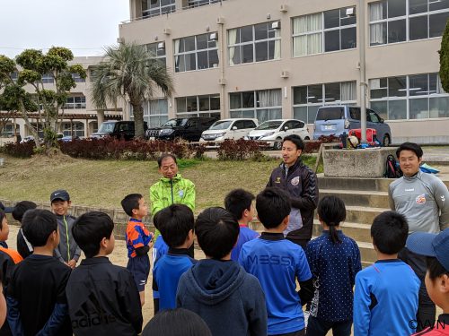
[[[145,135],[143,104],[156,90],[172,96],[172,75],[145,46],[134,42],[107,47],[104,60],[92,73],[93,104],[96,108],[106,108],[108,102],[116,105],[118,99],[128,97],[134,113],[136,138]]]

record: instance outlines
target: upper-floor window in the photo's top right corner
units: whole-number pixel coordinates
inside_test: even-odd
[[[440,37],[448,0],[383,0],[369,4],[370,46]]]

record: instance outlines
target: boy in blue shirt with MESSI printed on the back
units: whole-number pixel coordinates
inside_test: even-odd
[[[267,188],[256,199],[265,231],[242,246],[239,263],[260,280],[269,316],[269,335],[304,335],[302,305],[313,297],[309,264],[301,246],[284,237],[291,211],[286,192]],[[296,292],[296,280],[301,290]]]

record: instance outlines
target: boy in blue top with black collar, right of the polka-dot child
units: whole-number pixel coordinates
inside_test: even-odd
[[[401,336],[412,329],[420,280],[398,259],[409,225],[403,215],[385,211],[374,219],[371,237],[377,262],[359,271],[354,293],[354,335]]]

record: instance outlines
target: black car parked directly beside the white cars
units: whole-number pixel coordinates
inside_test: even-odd
[[[198,142],[203,131],[206,131],[216,120],[215,117],[209,116],[170,119],[161,127],[148,129],[146,139],[173,140],[174,138],[182,138],[189,142]]]

